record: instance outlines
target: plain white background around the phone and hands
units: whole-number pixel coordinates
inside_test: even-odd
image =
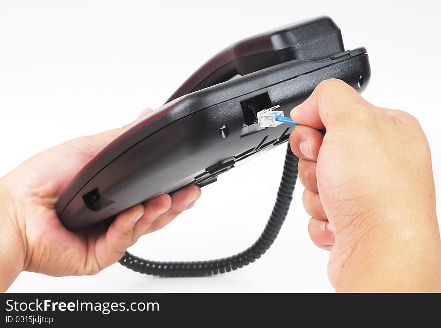
[[[365,46],[369,52],[372,77],[364,96],[421,122],[439,191],[440,12],[437,1],[1,0],[0,176],[40,150],[122,126],[143,108],[159,107],[232,42],[329,15],[342,29],[347,49]],[[153,260],[212,259],[242,251],[259,236],[271,211],[284,152],[281,146],[221,176],[203,189],[194,209],[130,250]],[[262,175],[268,167],[276,173]],[[299,184],[273,247],[233,273],[161,279],[115,264],[84,277],[24,272],[9,290],[332,291],[328,252],[309,240],[302,191]],[[439,193],[437,200],[441,213]]]

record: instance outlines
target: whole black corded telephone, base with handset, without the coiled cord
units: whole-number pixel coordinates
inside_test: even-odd
[[[86,164],[56,204],[61,221],[69,229],[91,226],[158,194],[214,182],[288,140],[292,126],[259,128],[256,112],[280,105],[289,116],[328,78],[359,92],[370,78],[366,50],[344,51],[328,17],[236,43]]]

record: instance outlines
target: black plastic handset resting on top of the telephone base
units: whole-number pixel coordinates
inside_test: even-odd
[[[241,40],[220,51],[193,73],[167,102],[293,59],[319,60],[344,50],[340,28],[317,17]]]

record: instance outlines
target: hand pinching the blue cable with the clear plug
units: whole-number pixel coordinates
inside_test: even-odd
[[[441,291],[430,149],[408,113],[373,106],[340,80],[291,111],[309,234],[330,250],[337,291]],[[317,129],[326,128],[323,136]]]

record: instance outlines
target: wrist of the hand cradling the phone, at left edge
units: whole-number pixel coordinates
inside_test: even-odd
[[[26,247],[7,178],[0,178],[0,291],[6,291],[24,269]]]

